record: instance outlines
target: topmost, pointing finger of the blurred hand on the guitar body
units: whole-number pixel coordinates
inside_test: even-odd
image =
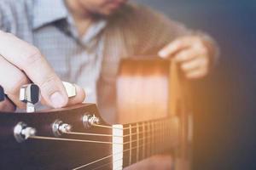
[[[166,59],[172,56],[173,54],[176,54],[178,51],[187,47],[188,47],[187,42],[183,41],[183,39],[177,39],[174,42],[168,44],[165,48],[161,49],[158,55],[161,58]]]

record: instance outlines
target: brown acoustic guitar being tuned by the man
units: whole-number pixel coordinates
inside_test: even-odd
[[[119,124],[96,105],[0,113],[0,169],[119,170],[172,153],[189,169],[189,111],[175,63],[123,59],[116,81]]]

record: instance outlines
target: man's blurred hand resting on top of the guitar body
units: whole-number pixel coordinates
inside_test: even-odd
[[[175,59],[185,77],[196,79],[205,77],[209,72],[211,46],[212,44],[202,37],[180,37],[160,50],[159,55],[162,58]]]

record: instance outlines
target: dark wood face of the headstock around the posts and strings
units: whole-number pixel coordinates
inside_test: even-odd
[[[30,127],[35,127],[38,136],[54,137],[50,127],[56,119],[73,125],[75,132],[112,133],[111,129],[107,128],[91,127],[84,129],[81,118],[88,113],[99,116],[96,105],[76,105],[68,110],[61,109],[48,112],[0,113],[0,169],[72,169],[111,155],[111,144],[41,139],[28,139],[23,143],[15,141],[13,130],[18,122],[26,122]],[[101,124],[106,123],[102,121]],[[112,141],[108,137],[91,138],[78,135],[63,135],[61,138]],[[109,162],[112,162],[111,157],[82,169],[93,169]],[[108,169],[109,166],[111,164],[98,169]]]

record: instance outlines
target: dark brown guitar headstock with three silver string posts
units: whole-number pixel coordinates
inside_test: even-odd
[[[22,99],[34,107],[33,89],[23,88]],[[3,90],[0,93],[5,96]],[[72,169],[111,155],[112,128],[96,105],[31,111],[0,111],[0,169]]]

